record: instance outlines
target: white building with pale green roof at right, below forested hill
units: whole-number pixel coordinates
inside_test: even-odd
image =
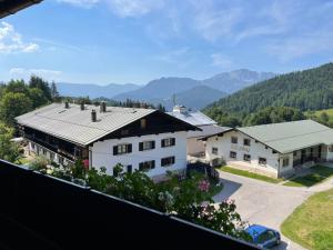
[[[333,160],[333,130],[312,120],[230,129],[204,138],[206,159],[272,177]]]

